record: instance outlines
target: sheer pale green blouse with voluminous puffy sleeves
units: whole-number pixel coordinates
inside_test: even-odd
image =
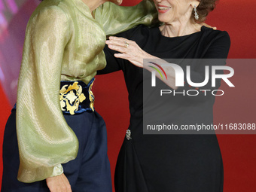
[[[81,0],[44,0],[26,29],[17,93],[18,180],[40,181],[74,160],[78,139],[59,104],[60,81],[84,81],[106,65],[106,35],[150,24],[153,2],[134,7],[106,2],[93,12]]]

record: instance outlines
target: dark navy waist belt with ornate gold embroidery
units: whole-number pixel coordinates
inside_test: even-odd
[[[60,81],[59,101],[64,114],[81,114],[94,111],[93,78],[89,84],[83,81]]]

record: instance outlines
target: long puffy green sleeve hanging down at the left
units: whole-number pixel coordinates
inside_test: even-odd
[[[75,159],[78,139],[59,104],[64,48],[69,19],[56,6],[29,20],[17,93],[18,180],[40,181],[62,174],[61,163]]]

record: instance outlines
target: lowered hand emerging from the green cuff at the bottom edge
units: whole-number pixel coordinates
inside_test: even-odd
[[[55,177],[46,178],[46,183],[50,192],[72,192],[69,180],[64,173]]]

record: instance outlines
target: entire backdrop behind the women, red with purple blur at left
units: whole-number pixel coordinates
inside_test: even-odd
[[[136,5],[139,2],[139,0],[123,0],[123,5]],[[5,123],[11,113],[11,106],[14,105],[16,100],[17,78],[20,70],[26,23],[38,3],[38,0],[0,0],[1,145]],[[218,29],[225,30],[230,34],[229,58],[253,59],[256,57],[255,7],[256,2],[254,0],[219,0],[215,11],[209,14],[206,23],[217,26]],[[236,70],[244,70],[245,76],[248,76],[251,81],[251,86],[254,86],[255,78],[252,75],[255,74],[256,68],[245,69],[242,64]],[[216,99],[215,122],[233,120],[233,113],[229,114],[229,111],[240,108],[236,113],[237,117],[246,116],[244,119],[254,120],[254,122],[244,123],[256,123],[255,105],[251,103],[255,96],[242,90],[245,86],[239,85],[239,79],[235,81],[240,88],[239,92],[236,93],[236,98],[244,97],[244,99],[240,99],[239,102],[234,102],[235,99],[229,98]],[[111,75],[96,77],[93,92],[96,95],[96,110],[99,114],[102,114],[108,128],[108,156],[113,177],[117,154],[123,142],[130,117],[122,73],[115,72]],[[256,191],[254,181],[256,175],[256,135],[218,135],[218,141],[224,161],[224,192]],[[0,163],[2,178],[2,158]]]

